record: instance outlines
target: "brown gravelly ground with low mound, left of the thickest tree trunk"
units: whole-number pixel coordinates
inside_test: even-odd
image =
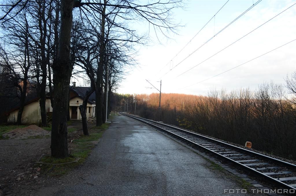
[[[81,121],[68,126],[77,130],[81,127]],[[82,132],[68,134],[69,150],[72,148],[71,139],[81,134]],[[41,155],[50,155],[50,131],[31,125],[10,131],[6,135],[11,139],[0,140],[0,196],[36,195],[34,192],[48,184],[62,184],[57,177],[41,176],[42,165],[36,163]]]

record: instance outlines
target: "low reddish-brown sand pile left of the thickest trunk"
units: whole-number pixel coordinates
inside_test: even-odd
[[[43,138],[50,136],[50,131],[46,131],[36,125],[30,125],[24,128],[16,128],[3,134],[3,137],[9,139],[28,139],[28,138]]]

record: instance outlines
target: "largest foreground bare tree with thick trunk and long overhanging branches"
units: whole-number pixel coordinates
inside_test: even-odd
[[[28,0],[19,0],[16,3],[5,6],[4,15],[0,20],[9,20],[17,15],[22,9],[24,9]],[[111,2],[111,3],[110,3]],[[141,3],[141,1],[140,1]],[[69,156],[67,148],[67,108],[69,93],[70,77],[73,70],[73,64],[71,63],[70,56],[70,39],[71,29],[73,24],[73,9],[79,7],[81,12],[86,16],[91,15],[100,20],[101,16],[104,19],[108,19],[105,13],[102,12],[106,7],[120,8],[121,18],[123,20],[133,20],[142,18],[148,23],[152,24],[155,29],[162,30],[174,30],[176,25],[171,22],[169,17],[172,9],[180,7],[180,1],[168,0],[165,3],[156,2],[151,4],[135,4],[131,1],[118,0],[118,1],[88,1],[81,2],[78,0],[60,0],[61,9],[61,23],[59,29],[59,43],[57,49],[57,57],[53,61],[53,84],[54,84],[54,104],[53,104],[53,118],[52,118],[52,142],[51,151],[53,157],[64,158]],[[17,10],[12,13],[12,10]],[[105,20],[103,20],[105,21]],[[102,25],[104,28],[104,25]],[[133,30],[127,29],[128,32],[133,34]],[[105,38],[104,29],[101,30],[102,40]],[[102,47],[103,44],[101,44]],[[100,54],[102,51],[100,50]],[[100,58],[101,59],[101,58]],[[99,62],[99,65],[102,63]],[[98,74],[97,74],[98,75]],[[98,85],[97,85],[98,86]]]

